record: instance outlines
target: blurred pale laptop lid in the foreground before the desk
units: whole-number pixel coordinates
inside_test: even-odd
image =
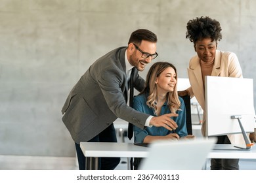
[[[150,144],[140,170],[202,170],[217,139],[158,141]]]

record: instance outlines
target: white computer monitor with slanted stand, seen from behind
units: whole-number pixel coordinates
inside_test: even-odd
[[[205,76],[205,115],[208,137],[244,131],[244,145],[250,148],[245,132],[255,127],[253,79]]]

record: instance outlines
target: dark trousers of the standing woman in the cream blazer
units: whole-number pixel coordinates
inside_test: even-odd
[[[230,144],[228,136],[218,136],[217,144]],[[239,159],[211,159],[211,170],[239,170]]]

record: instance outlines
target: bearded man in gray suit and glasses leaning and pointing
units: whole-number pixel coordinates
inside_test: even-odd
[[[157,37],[147,29],[131,34],[128,46],[116,48],[97,59],[81,76],[68,95],[62,108],[62,121],[75,141],[79,169],[85,169],[85,157],[80,142],[117,142],[113,122],[121,118],[137,127],[163,126],[169,130],[177,125],[171,116],[150,116],[127,105],[130,71],[135,67],[133,86],[139,92],[144,80],[138,71],[144,68],[156,53]],[[99,169],[115,169],[120,158],[100,158]]]

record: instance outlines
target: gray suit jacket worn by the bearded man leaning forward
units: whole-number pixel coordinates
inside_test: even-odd
[[[62,121],[77,144],[89,141],[117,118],[144,127],[149,115],[127,105],[126,48],[116,48],[97,59],[68,95]],[[144,80],[137,69],[133,80],[134,88],[141,91]]]

